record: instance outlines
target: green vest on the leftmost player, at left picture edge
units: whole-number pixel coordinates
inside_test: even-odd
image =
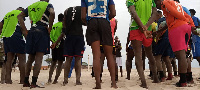
[[[4,17],[4,24],[3,24],[3,29],[1,33],[1,38],[2,37],[11,37],[13,33],[15,32],[17,23],[18,23],[18,18],[17,16],[21,13],[22,11],[20,10],[13,10],[11,12],[8,12],[5,17]]]

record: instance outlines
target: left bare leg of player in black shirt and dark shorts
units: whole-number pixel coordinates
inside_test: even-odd
[[[71,67],[71,62],[72,62],[73,57],[66,57],[66,61],[64,64],[64,82],[63,86],[65,86],[68,83],[68,75]]]

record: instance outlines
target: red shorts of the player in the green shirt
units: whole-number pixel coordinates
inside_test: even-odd
[[[152,44],[153,39],[152,38],[146,38],[144,33],[142,33],[140,30],[132,30],[130,31],[130,41],[132,40],[138,40],[142,41],[142,44],[145,47],[149,47]]]

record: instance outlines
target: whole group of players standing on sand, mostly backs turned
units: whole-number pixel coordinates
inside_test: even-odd
[[[72,59],[75,59],[76,85],[82,85],[81,58],[84,53],[84,35],[82,26],[87,26],[86,41],[93,54],[93,76],[96,80],[94,89],[101,89],[103,62],[106,57],[111,76],[111,87],[118,88],[118,69],[116,62],[121,62],[121,43],[114,35],[117,29],[114,0],[81,0],[81,6],[69,7],[64,14],[58,15],[54,23],[55,11],[49,0],[40,0],[26,9],[19,7],[7,13],[0,22],[1,37],[5,62],[5,83],[12,84],[11,65],[14,56],[19,59],[20,84],[23,87],[43,88],[37,85],[43,55],[52,49],[52,63],[49,70],[48,83],[52,83],[52,74],[58,63],[53,84],[56,84],[64,63],[63,85],[68,83]],[[187,10],[179,4],[179,0],[127,0],[126,6],[131,15],[131,24],[126,44],[127,79],[130,80],[132,60],[135,57],[141,87],[148,88],[145,75],[145,56],[149,60],[150,76],[153,83],[172,80],[174,74],[180,76],[177,87],[185,87],[193,83],[190,51],[200,63],[199,53],[199,19],[194,9]],[[163,11],[157,11],[160,9]],[[191,15],[190,15],[191,13]],[[164,15],[164,17],[163,17]],[[25,17],[31,20],[31,28],[27,30]],[[192,35],[191,35],[192,34]],[[192,40],[191,40],[192,36]],[[24,39],[26,40],[26,43]],[[50,41],[52,45],[50,46]],[[129,42],[131,44],[129,45]],[[129,45],[129,46],[128,46]],[[26,62],[26,53],[29,54]],[[175,58],[178,59],[178,70]],[[29,76],[33,67],[32,82]],[[118,63],[120,64],[120,63]],[[168,77],[165,79],[167,67]],[[122,67],[120,67],[121,76]],[[178,73],[178,74],[177,74]]]

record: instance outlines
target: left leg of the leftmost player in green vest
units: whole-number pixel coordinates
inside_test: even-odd
[[[14,60],[14,53],[7,53],[7,61],[6,61],[6,84],[12,84],[11,80],[11,71],[12,71],[12,63]]]

